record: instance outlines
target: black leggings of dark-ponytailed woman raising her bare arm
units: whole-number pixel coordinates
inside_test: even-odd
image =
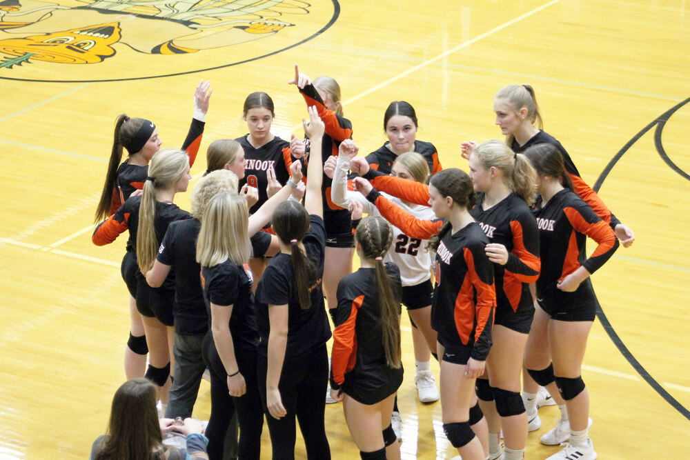
[[[288,414],[279,420],[274,419],[266,408],[267,366],[266,357],[259,357],[259,392],[273,446],[273,460],[295,458],[295,415],[304,437],[307,459],[330,460],[331,448],[324,426],[328,385],[326,344],[306,353],[302,359],[284,361],[278,390]]]

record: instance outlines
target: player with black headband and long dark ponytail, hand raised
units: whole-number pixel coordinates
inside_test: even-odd
[[[195,91],[195,110],[192,124],[187,137],[182,145],[190,155],[190,165],[199,150],[201,134],[204,132],[204,120],[208,111],[208,102],[213,90],[209,90],[210,82],[199,82]],[[155,125],[144,119],[130,118],[121,114],[115,121],[115,136],[110,152],[110,163],[106,173],[106,181],[103,184],[101,199],[96,209],[95,221],[103,221],[115,213],[122,206],[132,192],[140,190],[144,186],[148,175],[148,163],[161,146],[158,129]],[[120,164],[122,149],[126,148],[128,159]],[[130,248],[122,259],[121,274],[130,292],[130,334],[125,348],[125,375],[127,379],[143,377],[146,371],[146,337],[144,337],[144,324],[137,312],[137,261]]]

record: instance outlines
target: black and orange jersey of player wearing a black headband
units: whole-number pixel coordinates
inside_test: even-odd
[[[199,146],[201,146],[201,137],[204,135],[204,121],[199,121],[195,118],[189,126],[187,137],[182,144],[182,150],[189,155],[189,167],[191,168],[197,159],[199,153]],[[122,203],[127,201],[135,190],[144,188],[144,181],[148,176],[148,165],[138,166],[130,165],[129,160],[123,161],[117,168],[117,179],[115,181],[115,189],[112,190],[112,200],[110,201],[110,215],[115,213],[117,208],[122,206]]]

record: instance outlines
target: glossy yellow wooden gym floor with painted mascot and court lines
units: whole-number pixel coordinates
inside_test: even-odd
[[[637,237],[593,277],[603,313],[583,376],[595,449],[602,459],[686,452],[686,1],[136,3],[0,3],[0,458],[87,457],[124,380],[124,237],[105,248],[90,241],[117,114],[155,121],[164,146],[177,147],[197,82],[212,81],[198,177],[210,141],[246,132],[250,92],[273,97],[275,133],[302,134],[304,101],[286,84],[295,63],[339,81],[362,152],[384,142],[383,112],[402,99],[417,110],[417,139],[432,141],[445,167],[466,168],[461,141],[500,137],[498,89],[531,83],[547,132]],[[188,194],[177,201],[188,209]],[[412,370],[406,319],[403,348]],[[413,372],[399,399],[403,458],[453,457],[440,403],[417,402]],[[206,382],[195,412],[208,418]],[[558,409],[540,416],[528,459],[558,450],[539,443]],[[342,407],[326,417],[333,458],[359,458]]]

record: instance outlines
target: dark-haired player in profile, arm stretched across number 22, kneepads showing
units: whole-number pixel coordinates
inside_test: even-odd
[[[413,230],[411,221],[427,232],[438,232],[431,240],[431,248],[436,250],[431,321],[438,332],[444,431],[463,459],[483,460],[488,439],[480,437],[486,437],[486,422],[472,401],[475,379],[484,373],[491,348],[496,293],[492,263],[486,257],[489,239],[469,214],[475,203],[471,179],[456,168],[431,177],[429,201],[443,222],[420,221],[407,214],[366,179],[354,179],[353,186],[406,234]]]

